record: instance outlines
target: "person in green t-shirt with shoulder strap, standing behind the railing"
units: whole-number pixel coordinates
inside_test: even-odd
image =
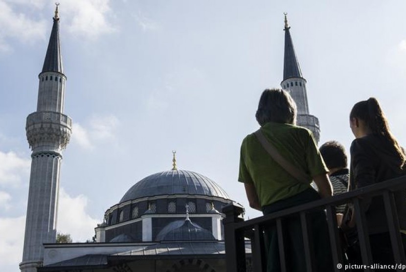
[[[328,169],[317,149],[312,133],[295,126],[296,104],[286,91],[265,90],[255,115],[261,132],[280,155],[308,176],[308,183],[298,181],[264,149],[254,134],[241,145],[238,181],[244,182],[249,205],[264,215],[292,206],[331,197]],[[310,183],[315,181],[318,193]],[[310,241],[315,249],[317,271],[333,271],[325,213],[308,213]],[[306,271],[301,222],[298,215],[283,218],[284,246],[288,271]],[[268,244],[268,272],[281,270],[275,224],[265,229]]]

